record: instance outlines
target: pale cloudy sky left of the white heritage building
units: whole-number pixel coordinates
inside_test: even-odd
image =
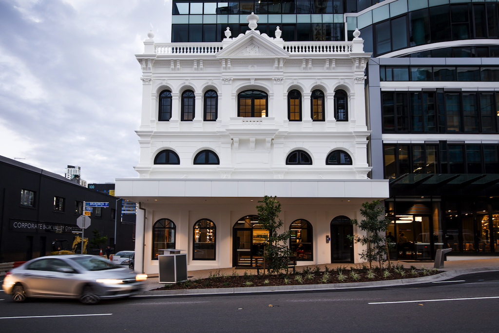
[[[171,0],[0,0],[0,155],[88,182],[136,178],[135,54]]]

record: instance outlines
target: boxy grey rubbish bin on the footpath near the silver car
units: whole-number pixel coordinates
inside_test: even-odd
[[[187,254],[178,249],[161,249],[158,256],[159,283],[177,283],[187,280]]]

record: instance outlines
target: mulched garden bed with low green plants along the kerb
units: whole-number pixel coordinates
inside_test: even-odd
[[[414,266],[404,268],[397,265],[388,268],[354,268],[338,267],[321,271],[319,267],[305,267],[296,274],[260,274],[254,275],[245,271],[238,275],[236,271],[232,275],[223,275],[220,271],[210,274],[206,279],[187,280],[176,284],[167,284],[165,287],[154,290],[180,290],[180,289],[207,289],[207,288],[238,288],[238,287],[262,287],[262,286],[296,286],[296,285],[320,285],[331,283],[372,282],[397,279],[411,279],[442,273],[437,269],[417,269]]]

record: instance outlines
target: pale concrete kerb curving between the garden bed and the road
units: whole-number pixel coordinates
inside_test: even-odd
[[[414,285],[425,282],[437,282],[453,278],[462,274],[494,272],[499,271],[497,267],[472,268],[455,271],[447,271],[436,275],[374,282],[335,283],[324,285],[301,285],[301,286],[263,286],[263,287],[238,287],[238,288],[212,288],[212,289],[183,289],[183,290],[157,290],[146,291],[133,297],[166,297],[166,296],[190,296],[190,295],[231,295],[231,294],[253,294],[253,293],[279,293],[279,292],[306,292],[326,291],[339,289],[360,289]]]

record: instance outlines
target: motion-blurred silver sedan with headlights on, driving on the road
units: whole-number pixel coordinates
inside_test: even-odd
[[[2,288],[15,302],[28,297],[75,298],[85,304],[128,297],[142,290],[145,274],[89,255],[47,256],[5,274]]]

